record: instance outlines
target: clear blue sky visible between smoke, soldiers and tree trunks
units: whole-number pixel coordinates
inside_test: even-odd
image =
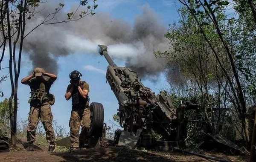
[[[69,0],[67,5],[71,5],[74,2],[76,2],[76,0]],[[134,23],[135,17],[141,14],[141,7],[148,4],[150,8],[157,12],[159,20],[164,23],[166,29],[168,28],[168,24],[177,20],[178,14],[176,12],[176,7],[179,6],[179,3],[175,0],[98,0],[97,4],[99,4],[99,7],[95,11],[96,14],[99,12],[108,13],[111,17],[124,20],[131,25]],[[8,55],[6,55],[3,61],[2,67],[8,66],[7,62],[9,59],[7,56]],[[118,66],[125,65],[123,61],[114,61]],[[54,120],[58,122],[59,125],[64,125],[66,132],[69,132],[68,122],[70,119],[71,101],[66,101],[64,94],[70,80],[69,73],[73,70],[79,70],[83,75],[82,80],[86,81],[90,86],[90,102],[100,102],[103,104],[105,109],[105,122],[108,126],[111,126],[109,120],[112,120],[112,115],[116,113],[119,106],[109,84],[106,83],[105,71],[108,63],[105,58],[84,51],[65,57],[59,57],[57,63],[59,65],[58,79],[52,85],[50,90],[56,98],[55,104],[52,106]],[[20,84],[20,80],[27,76],[31,71],[32,64],[28,57],[23,55],[18,88],[18,119],[26,120],[28,117],[29,104],[27,101],[30,96],[29,86]],[[1,70],[0,75],[2,76],[6,73],[8,73],[8,70],[3,69]],[[142,82],[146,87],[151,87],[152,91],[155,93],[158,93],[160,89],[167,86],[163,75],[160,76],[157,84],[148,80],[142,80]],[[7,78],[7,81],[0,84],[0,89],[4,92],[4,97],[0,98],[0,101],[10,96],[9,78]]]

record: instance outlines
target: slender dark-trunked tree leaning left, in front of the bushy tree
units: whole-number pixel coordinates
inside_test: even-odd
[[[239,113],[239,119],[241,120],[241,125],[244,130],[245,139],[249,142],[249,134],[246,127],[246,100],[243,85],[241,84],[241,77],[239,76],[238,67],[236,66],[236,53],[230,50],[230,44],[227,40],[227,34],[225,34],[225,26],[221,26],[220,19],[218,17],[219,13],[224,13],[224,6],[229,3],[225,0],[179,0],[184,6],[189,9],[190,13],[193,15],[195,21],[198,23],[200,32],[204,35],[205,40],[207,41],[210,49],[212,50],[215,58],[218,62],[218,66],[221,67],[221,71],[227,77],[228,84],[230,86],[230,92],[232,93],[234,100],[233,106],[236,109],[236,112]],[[214,46],[211,40],[209,39],[207,32],[203,28],[204,23],[200,23],[198,18],[205,17],[205,19],[211,21],[215,26],[215,32],[218,34],[218,38],[221,42],[220,46]],[[226,16],[227,17],[227,16]],[[233,18],[235,19],[235,18]],[[230,67],[232,69],[232,75],[230,76],[227,72],[227,69],[224,67],[224,64],[221,62],[220,57],[216,49],[222,48],[225,51],[225,55],[228,58]]]

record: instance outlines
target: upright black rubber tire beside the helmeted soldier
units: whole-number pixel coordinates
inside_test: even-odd
[[[101,103],[92,102],[90,104],[90,130],[88,136],[90,137],[102,137],[104,127],[104,107]]]

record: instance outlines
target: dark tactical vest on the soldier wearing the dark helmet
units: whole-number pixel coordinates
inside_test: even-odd
[[[80,87],[83,90],[84,87],[84,83],[86,83],[85,81],[82,81]],[[81,96],[81,94],[79,93],[78,87],[74,87],[73,89],[73,93],[72,93],[72,105],[73,106],[77,106],[77,107],[81,107],[81,108],[85,108],[87,107],[87,105],[89,106],[89,102],[88,102],[88,97],[87,98],[83,98]]]

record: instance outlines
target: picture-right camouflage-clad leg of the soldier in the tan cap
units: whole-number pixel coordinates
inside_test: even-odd
[[[46,134],[46,140],[50,145],[54,145],[55,134],[52,127],[52,111],[50,104],[44,105],[41,107],[41,122],[44,125],[44,130]]]

